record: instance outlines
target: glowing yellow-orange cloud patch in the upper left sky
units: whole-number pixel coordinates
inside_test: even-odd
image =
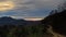
[[[13,8],[14,8],[14,3],[12,1],[0,2],[0,11],[11,10]]]

